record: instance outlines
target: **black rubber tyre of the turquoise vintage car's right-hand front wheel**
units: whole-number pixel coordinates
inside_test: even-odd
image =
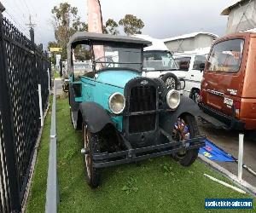
[[[190,139],[194,138],[197,135],[200,135],[194,116],[185,114],[180,119],[183,120],[184,124],[186,124],[187,128],[189,129]],[[177,140],[177,138],[175,137],[173,139]],[[177,141],[183,140],[183,139],[184,138],[179,138]],[[173,157],[179,162],[179,164],[182,164],[183,166],[189,166],[195,162],[195,159],[198,156],[198,152],[199,152],[199,148],[189,149],[184,153],[175,153]]]

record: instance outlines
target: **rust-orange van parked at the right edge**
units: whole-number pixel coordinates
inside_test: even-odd
[[[222,37],[212,45],[201,83],[200,107],[224,128],[256,129],[255,46],[256,33],[251,32]]]

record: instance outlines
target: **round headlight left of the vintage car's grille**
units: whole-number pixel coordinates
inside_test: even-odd
[[[108,99],[108,107],[114,114],[119,114],[125,109],[125,96],[113,93]]]

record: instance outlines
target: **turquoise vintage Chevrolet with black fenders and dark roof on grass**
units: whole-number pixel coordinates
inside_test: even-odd
[[[137,37],[77,32],[67,47],[73,126],[83,133],[85,174],[97,187],[101,168],[164,155],[189,166],[205,145],[194,101],[143,78],[143,48]],[[73,53],[83,47],[92,71],[73,73]]]

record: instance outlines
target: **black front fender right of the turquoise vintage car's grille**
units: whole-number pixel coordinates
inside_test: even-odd
[[[193,100],[181,95],[180,104],[175,111],[160,113],[160,128],[170,133],[177,122],[177,118],[183,113],[189,113],[193,116],[198,116],[199,107]]]

